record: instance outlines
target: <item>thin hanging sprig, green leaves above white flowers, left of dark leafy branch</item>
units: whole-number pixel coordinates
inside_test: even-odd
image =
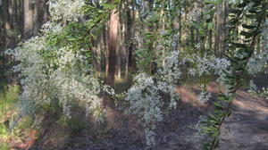
[[[217,9],[217,5],[221,4],[222,0],[208,0],[201,1],[193,14],[189,25],[198,30],[198,42],[196,46],[190,48],[189,57],[194,57],[189,62],[194,64],[194,68],[189,69],[190,75],[200,77],[202,92],[198,96],[198,100],[204,104],[211,96],[207,92],[207,84],[209,82],[208,76],[213,72],[214,75],[222,79],[222,72],[230,66],[230,61],[225,58],[217,58],[214,55],[211,44],[209,44],[209,34],[215,32],[214,30],[214,14]],[[203,7],[200,9],[199,7]],[[193,52],[192,52],[193,51]]]

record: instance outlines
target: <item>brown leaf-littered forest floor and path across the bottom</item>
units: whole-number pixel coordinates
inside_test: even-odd
[[[257,87],[267,87],[264,76],[255,80]],[[213,99],[208,104],[199,104],[197,85],[177,88],[181,94],[178,107],[157,125],[156,145],[152,150],[201,150],[201,140],[195,125],[199,117],[212,112],[213,102],[219,94],[215,82],[208,90]],[[224,121],[220,147],[217,150],[267,150],[268,149],[268,100],[240,89],[233,102],[233,111]],[[102,127],[92,125],[77,133],[48,124],[37,134],[29,132],[24,143],[13,147],[32,150],[144,150],[146,141],[137,118],[126,115],[114,107],[106,109],[107,122]],[[36,136],[33,136],[36,135]],[[38,139],[36,137],[39,137]],[[35,141],[35,142],[33,142]],[[26,145],[29,143],[29,145]],[[26,145],[26,146],[25,146]],[[24,147],[22,147],[24,146]]]

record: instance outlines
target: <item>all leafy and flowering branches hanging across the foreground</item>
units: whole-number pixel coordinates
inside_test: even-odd
[[[249,74],[264,71],[268,58],[266,0],[230,3],[230,35],[226,41],[229,49],[224,57],[216,57],[208,37],[212,32],[216,34],[213,20],[222,2],[202,0],[197,3],[186,26],[197,30],[198,43],[184,47],[178,43],[179,22],[174,22],[182,12],[183,3],[155,0],[151,6],[141,4],[135,33],[138,73],[130,89],[116,95],[112,87],[104,85],[94,74],[93,43],[111,12],[121,6],[121,1],[107,4],[50,0],[50,21],[38,37],[6,51],[19,63],[13,71],[19,72],[21,78],[20,115],[38,116],[47,107],[55,108],[62,114],[60,121],[80,130],[84,124],[77,125],[71,118],[74,105],[86,107],[88,114],[100,117],[102,92],[114,98],[125,96],[126,112],[138,116],[145,129],[147,146],[153,146],[156,124],[179,104],[180,96],[174,88],[180,86],[185,76],[200,79],[198,100],[205,104],[211,98],[206,89],[209,77],[216,76],[227,91],[214,103],[214,113],[201,121],[202,131],[208,137],[204,149],[216,148],[222,122],[230,115],[231,102],[244,75],[247,71]],[[264,44],[263,50],[255,53],[257,40]]]

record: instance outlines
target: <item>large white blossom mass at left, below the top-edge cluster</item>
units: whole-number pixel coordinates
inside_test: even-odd
[[[51,47],[46,46],[45,37],[33,37],[14,51],[16,61],[21,63],[14,71],[21,74],[21,114],[32,114],[39,107],[54,104],[63,107],[63,116],[71,117],[71,105],[87,106],[95,115],[101,111],[99,93],[101,86],[97,79],[87,74],[88,62],[81,54],[74,54],[70,47],[55,49],[55,59],[46,60]]]

